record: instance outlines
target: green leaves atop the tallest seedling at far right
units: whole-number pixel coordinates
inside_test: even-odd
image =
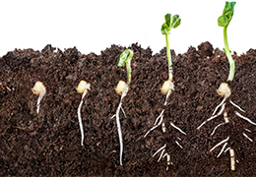
[[[220,27],[227,27],[233,17],[234,5],[236,2],[225,2],[223,15],[218,19]]]

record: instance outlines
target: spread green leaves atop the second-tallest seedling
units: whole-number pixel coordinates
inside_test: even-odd
[[[162,34],[168,34],[170,29],[176,29],[181,22],[179,15],[174,15],[171,17],[170,14],[166,14],[164,16],[164,19],[165,19],[165,23],[162,24],[160,29]]]

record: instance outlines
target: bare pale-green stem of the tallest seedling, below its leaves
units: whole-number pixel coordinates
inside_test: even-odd
[[[229,74],[226,82],[232,82],[234,77],[234,71],[235,71],[235,63],[230,54],[230,50],[228,47],[226,29],[227,27],[224,27],[224,52],[229,62]]]

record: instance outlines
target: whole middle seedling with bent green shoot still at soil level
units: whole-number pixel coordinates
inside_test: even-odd
[[[119,112],[120,112],[120,109],[122,109],[122,100],[124,96],[126,96],[128,90],[130,89],[130,84],[132,81],[132,69],[131,69],[132,57],[133,57],[133,51],[131,49],[126,49],[121,53],[116,63],[116,66],[118,67],[123,67],[126,64],[126,71],[127,71],[127,83],[125,83],[124,81],[119,81],[119,83],[115,87],[116,93],[121,95],[121,98],[120,98],[119,105],[116,109],[116,113],[110,118],[112,119],[113,117],[115,117],[115,120],[116,120],[117,132],[118,132],[119,144],[120,144],[120,165],[123,165],[123,162],[122,162],[123,138],[122,138]],[[124,116],[126,117],[123,109],[122,111]]]

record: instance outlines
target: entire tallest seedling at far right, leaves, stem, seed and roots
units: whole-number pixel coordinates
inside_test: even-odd
[[[226,57],[228,59],[229,62],[229,74],[228,74],[228,78],[227,81],[222,83],[220,88],[217,89],[217,92],[220,96],[224,97],[223,101],[215,108],[213,115],[207,119],[206,121],[204,121],[198,128],[197,130],[199,130],[203,125],[205,125],[207,122],[219,117],[220,115],[222,115],[224,113],[224,123],[221,123],[219,125],[217,125],[214,128],[214,131],[212,132],[211,136],[213,136],[215,134],[215,132],[217,131],[217,129],[227,123],[229,123],[229,119],[227,118],[227,111],[225,110],[225,102],[228,99],[230,104],[232,106],[234,106],[235,108],[237,108],[239,111],[241,112],[245,112],[242,108],[240,108],[238,105],[236,105],[235,103],[233,103],[230,99],[231,96],[231,89],[228,85],[228,83],[231,83],[233,81],[233,77],[234,77],[234,71],[235,71],[235,63],[234,60],[232,59],[232,56],[230,54],[230,50],[228,47],[228,43],[227,43],[227,35],[226,35],[226,29],[227,26],[229,25],[232,16],[233,16],[233,10],[234,10],[234,5],[235,2],[225,2],[225,6],[224,6],[224,11],[223,11],[223,15],[218,19],[218,25],[220,27],[224,27],[224,52],[226,54]],[[221,107],[221,108],[220,108]],[[217,111],[220,111],[217,113]],[[252,125],[256,126],[256,123],[254,123],[253,121],[251,121],[249,118],[244,117],[243,115],[241,115],[238,111],[234,112],[236,116],[238,116],[239,118],[246,120],[247,122],[249,122]],[[251,132],[248,129],[245,129],[245,131]],[[248,139],[250,142],[252,142],[252,140],[245,134],[243,133],[243,136]],[[222,142],[220,142],[219,144],[217,144],[214,148],[211,148],[210,151],[214,150],[215,148],[218,148],[219,146],[223,146],[223,148],[221,149],[220,153],[218,154],[217,157],[219,157],[223,152],[225,152],[226,150],[229,149],[229,153],[230,153],[230,168],[232,171],[235,170],[235,156],[234,156],[234,150],[233,148],[228,147],[228,141],[229,141],[229,136],[224,139]],[[226,148],[226,149],[225,149]]]

